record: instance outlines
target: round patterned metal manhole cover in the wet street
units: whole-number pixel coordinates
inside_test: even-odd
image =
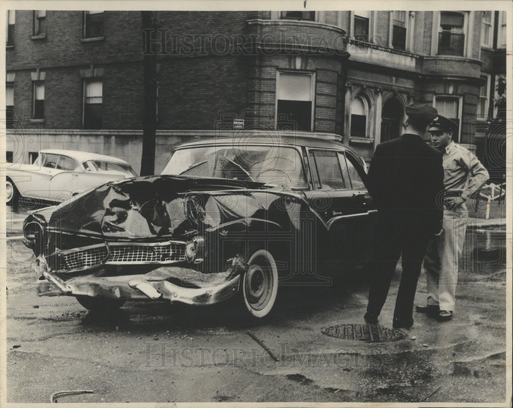
[[[400,330],[373,324],[337,324],[336,326],[323,327],[321,333],[339,339],[359,340],[366,343],[398,341],[406,337],[406,334]]]

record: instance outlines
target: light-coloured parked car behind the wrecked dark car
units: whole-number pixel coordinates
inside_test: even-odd
[[[12,164],[6,169],[6,203],[20,198],[63,202],[79,192],[108,181],[136,177],[124,160],[84,151],[41,150],[33,164]]]

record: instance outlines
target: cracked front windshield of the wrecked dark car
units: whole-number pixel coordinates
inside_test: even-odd
[[[179,149],[162,174],[217,177],[306,187],[299,152],[285,146],[207,146]]]

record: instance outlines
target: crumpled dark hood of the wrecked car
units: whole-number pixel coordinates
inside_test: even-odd
[[[32,213],[50,230],[103,240],[152,240],[215,229],[241,218],[264,218],[279,207],[289,219],[306,201],[286,186],[240,180],[150,176],[120,180]],[[65,247],[66,245],[63,245]]]

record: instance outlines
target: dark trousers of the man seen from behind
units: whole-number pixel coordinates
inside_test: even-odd
[[[375,316],[379,316],[381,313],[393,273],[396,270],[399,257],[402,255],[403,272],[393,317],[406,320],[412,316],[413,299],[429,235],[398,228],[399,225],[401,225],[400,221],[394,226],[382,225],[382,228],[386,229],[381,229],[377,248],[374,251],[367,312]]]

